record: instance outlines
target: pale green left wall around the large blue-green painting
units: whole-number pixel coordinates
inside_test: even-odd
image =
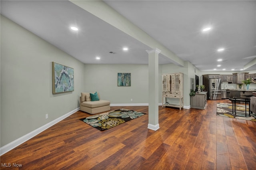
[[[52,61],[74,68],[73,92],[52,94]],[[79,107],[84,63],[4,16],[0,68],[1,147]]]

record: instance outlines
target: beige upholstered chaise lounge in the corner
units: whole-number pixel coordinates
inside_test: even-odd
[[[100,95],[98,93],[100,99]],[[80,97],[80,111],[90,114],[101,113],[110,110],[110,101],[99,100],[91,101],[90,93],[81,93]]]

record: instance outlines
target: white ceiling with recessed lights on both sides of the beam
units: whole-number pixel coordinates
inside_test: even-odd
[[[214,68],[240,71],[256,58],[256,1],[104,2],[201,71]],[[150,47],[72,2],[1,0],[0,3],[3,16],[83,63],[148,63],[146,50]],[[70,30],[70,26],[77,26],[79,31]],[[206,26],[212,29],[202,32]],[[124,46],[129,50],[123,51]],[[226,50],[217,52],[220,47]],[[96,60],[96,56],[101,59]],[[218,62],[220,58],[224,61]],[[160,54],[159,63],[171,60]],[[247,70],[251,69],[256,66]]]

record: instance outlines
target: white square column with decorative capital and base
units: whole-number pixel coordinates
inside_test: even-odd
[[[148,52],[148,128],[157,130],[158,124],[158,54],[160,49]]]

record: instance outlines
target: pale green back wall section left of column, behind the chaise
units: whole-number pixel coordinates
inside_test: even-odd
[[[85,64],[84,69],[84,92],[98,91],[111,104],[148,103],[148,65]],[[131,73],[131,86],[117,86],[117,73]]]

